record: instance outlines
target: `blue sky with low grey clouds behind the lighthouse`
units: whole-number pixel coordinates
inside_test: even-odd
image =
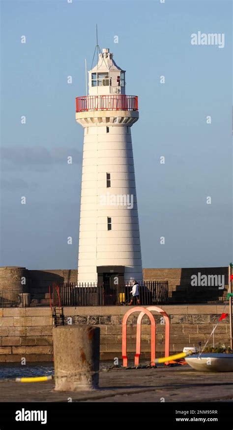
[[[228,265],[232,2],[0,3],[0,265],[77,267],[83,128],[75,122],[75,97],[85,95],[96,23],[101,48],[126,70],[126,94],[139,97],[131,132],[143,266]],[[198,31],[224,33],[224,48],[191,45]]]

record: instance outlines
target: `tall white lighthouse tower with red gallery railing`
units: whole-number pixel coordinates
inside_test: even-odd
[[[88,72],[88,95],[76,98],[84,127],[78,282],[142,281],[142,256],[131,127],[138,97],[125,94],[125,70],[108,48]]]

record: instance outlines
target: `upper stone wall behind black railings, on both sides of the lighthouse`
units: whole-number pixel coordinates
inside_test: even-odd
[[[224,277],[225,290],[218,287],[191,285],[191,276],[198,274]],[[25,277],[25,285],[21,277]],[[228,267],[144,268],[144,280],[168,281],[170,303],[202,303],[221,299],[228,284]],[[32,305],[49,304],[49,286],[76,283],[77,269],[29,270],[25,267],[0,267],[0,290],[30,293]]]

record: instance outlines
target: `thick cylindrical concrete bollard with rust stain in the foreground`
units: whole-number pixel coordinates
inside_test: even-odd
[[[99,383],[99,327],[53,327],[55,391],[93,390]]]

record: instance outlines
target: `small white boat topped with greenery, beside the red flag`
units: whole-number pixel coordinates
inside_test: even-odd
[[[185,357],[185,361],[199,372],[233,372],[233,354],[196,354]]]

